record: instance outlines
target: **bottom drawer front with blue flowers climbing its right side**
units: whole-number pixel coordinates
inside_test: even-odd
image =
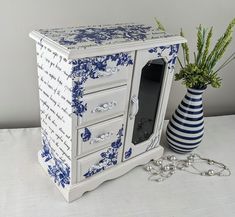
[[[123,127],[116,132],[116,138],[109,147],[90,154],[77,161],[77,182],[90,178],[121,162],[123,149]]]

